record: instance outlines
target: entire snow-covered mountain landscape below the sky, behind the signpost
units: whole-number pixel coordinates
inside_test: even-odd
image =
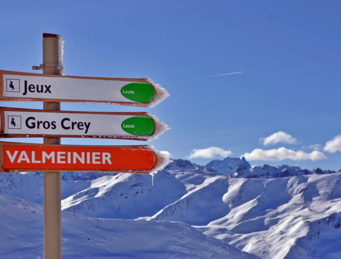
[[[319,168],[306,170],[289,165],[251,167],[244,158],[228,157],[213,160],[205,166],[176,159],[158,172],[154,179],[149,175],[84,172],[63,173],[62,179],[63,251],[70,258],[68,247],[71,243],[81,248],[84,246],[85,250],[87,248],[85,244],[79,244],[88,235],[82,224],[91,230],[89,239],[96,240],[91,247],[96,250],[98,245],[103,256],[108,251],[111,255],[115,253],[109,248],[111,241],[108,240],[112,239],[110,231],[121,233],[116,235],[117,242],[123,242],[124,236],[139,236],[137,232],[147,233],[150,240],[160,242],[152,248],[149,243],[139,243],[138,251],[130,255],[125,250],[120,255],[122,257],[117,258],[144,258],[148,249],[149,252],[161,252],[159,257],[156,255],[158,252],[153,252],[155,258],[210,258],[213,253],[200,257],[205,245],[201,250],[198,242],[212,245],[208,251],[221,251],[216,252],[214,258],[230,258],[221,247],[225,247],[230,256],[235,256],[231,258],[242,258],[242,255],[248,258],[247,253],[259,258],[278,259],[341,257],[341,246],[338,246],[341,236],[341,172]],[[0,197],[6,197],[0,198],[0,219],[4,219],[4,224],[11,219],[8,218],[10,214],[5,212],[7,208],[2,208],[15,207],[15,204],[21,204],[18,205],[21,211],[25,211],[22,209],[24,207],[31,211],[25,215],[36,217],[41,213],[43,203],[42,174],[0,175],[0,193]],[[8,197],[15,200],[12,205],[3,204]],[[15,222],[25,222],[21,217],[24,216],[18,214]],[[29,218],[28,221],[39,222],[38,219],[42,220],[39,217],[35,220]],[[118,230],[115,224],[122,225],[122,228]],[[27,222],[24,225],[29,226]],[[126,230],[127,233],[124,233],[124,228],[130,228],[128,225],[133,226],[132,232]],[[64,226],[68,226],[67,229]],[[38,233],[41,228],[32,229],[36,236],[36,247],[32,251],[41,249],[39,245],[42,244],[38,244],[42,238]],[[11,227],[2,228],[1,225],[0,232],[3,229],[6,238],[11,238]],[[173,233],[173,229],[177,233]],[[175,240],[170,236],[179,238],[180,233],[184,243],[172,244]],[[13,235],[19,238],[24,234]],[[138,242],[133,240],[131,244]],[[127,240],[125,242],[129,243]],[[186,252],[179,253],[180,246]],[[196,250],[193,255],[188,252],[191,249]],[[177,253],[170,252],[173,250]],[[247,253],[240,255],[239,251]],[[9,252],[12,253],[15,251]],[[90,257],[100,258],[93,251],[89,253]],[[83,251],[80,254],[84,255]],[[0,257],[3,258],[1,253]]]

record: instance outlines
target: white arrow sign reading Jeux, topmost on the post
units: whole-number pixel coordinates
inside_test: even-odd
[[[0,100],[92,102],[153,107],[169,94],[143,78],[102,78],[0,70]]]

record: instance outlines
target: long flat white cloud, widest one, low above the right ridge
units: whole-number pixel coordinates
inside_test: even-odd
[[[294,151],[291,149],[286,149],[285,147],[270,150],[256,148],[252,150],[251,153],[244,153],[243,155],[241,155],[241,157],[242,156],[244,156],[245,159],[249,161],[252,160],[281,161],[284,159],[315,161],[319,159],[327,159],[327,157],[320,151],[314,150],[311,153],[306,153],[301,150]]]

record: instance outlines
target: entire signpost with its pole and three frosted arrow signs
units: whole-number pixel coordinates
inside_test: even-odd
[[[143,78],[62,75],[63,39],[43,33],[44,74],[0,70],[0,101],[43,101],[44,110],[0,107],[0,138],[44,137],[44,144],[0,142],[0,172],[44,172],[44,258],[61,258],[61,171],[153,174],[169,159],[149,146],[60,145],[60,137],[154,140],[168,126],[145,112],[60,111],[60,102],[153,107],[169,94]]]

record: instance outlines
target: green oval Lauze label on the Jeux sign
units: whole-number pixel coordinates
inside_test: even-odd
[[[128,83],[121,88],[121,94],[139,103],[149,103],[155,96],[153,85],[150,83]]]

